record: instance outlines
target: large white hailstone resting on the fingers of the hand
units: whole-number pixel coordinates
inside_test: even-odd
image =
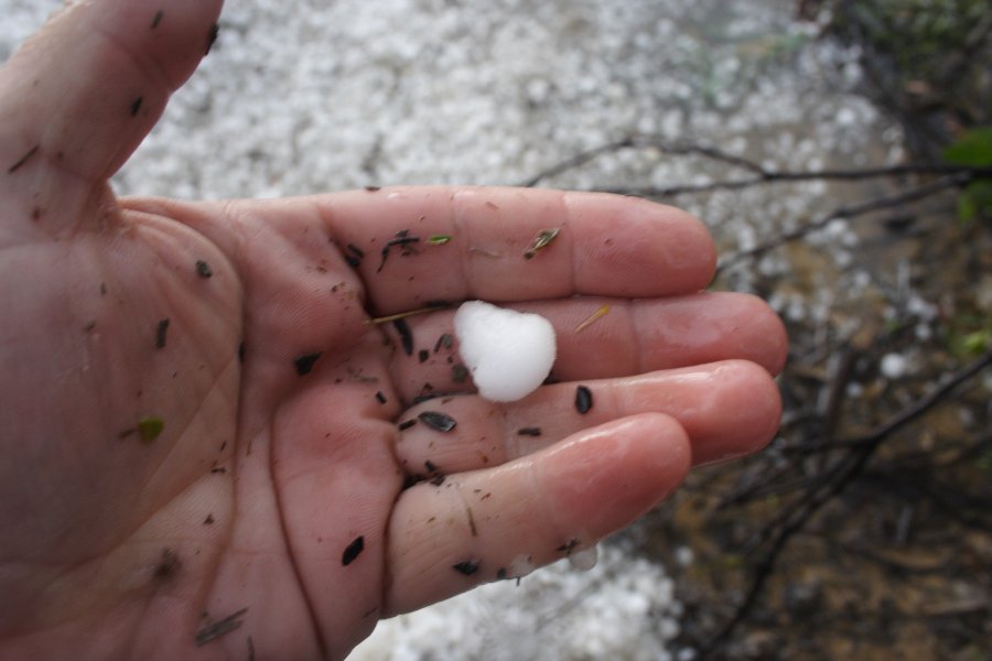
[[[539,314],[463,303],[455,313],[459,353],[478,393],[511,402],[533,392],[554,364],[554,328]]]

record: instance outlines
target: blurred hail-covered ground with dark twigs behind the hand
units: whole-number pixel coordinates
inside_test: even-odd
[[[61,0],[0,0],[0,61]],[[115,177],[259,197],[613,191],[701,217],[789,327],[779,436],[354,659],[986,659],[988,0],[233,0]]]

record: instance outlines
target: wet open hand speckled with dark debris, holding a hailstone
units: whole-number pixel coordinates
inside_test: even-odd
[[[73,6],[0,72],[0,657],[341,658],[378,618],[587,546],[772,437],[783,327],[699,293],[713,246],[676,209],[116,199],[219,4]],[[420,241],[382,252],[403,230]],[[451,310],[408,317],[406,346],[368,323],[467,299],[551,319],[557,382],[493,404],[453,372]],[[424,411],[457,426],[400,431]]]

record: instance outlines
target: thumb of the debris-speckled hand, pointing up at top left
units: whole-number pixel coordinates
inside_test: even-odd
[[[206,54],[220,4],[95,0],[55,14],[0,72],[7,185],[45,201],[62,180],[109,177]]]

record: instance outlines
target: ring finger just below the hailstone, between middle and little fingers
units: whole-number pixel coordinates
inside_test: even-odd
[[[413,407],[401,422],[397,455],[405,469],[430,478],[498,466],[537,452],[592,425],[630,415],[665,413],[689,434],[692,462],[708,464],[750,454],[775,435],[781,415],[778,388],[753,362],[733,360],[625,379],[585,381],[592,408],[576,410],[576,383],[547,386],[498,404],[474,395]],[[442,433],[418,419],[424,411],[455,421]]]

